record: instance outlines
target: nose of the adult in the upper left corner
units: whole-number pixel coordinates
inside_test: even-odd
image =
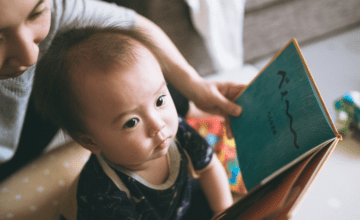
[[[33,33],[27,30],[15,34],[10,50],[12,52],[8,64],[13,67],[32,66],[39,55],[38,42],[35,41]]]

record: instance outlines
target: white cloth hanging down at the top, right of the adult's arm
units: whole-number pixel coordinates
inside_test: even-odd
[[[194,27],[208,44],[219,71],[242,67],[246,0],[185,1]]]

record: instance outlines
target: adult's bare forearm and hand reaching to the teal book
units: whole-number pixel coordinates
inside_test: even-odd
[[[138,15],[137,27],[164,52],[163,59],[168,66],[168,71],[164,72],[166,80],[193,101],[199,109],[223,116],[227,135],[231,138],[228,115],[238,117],[241,114],[241,107],[232,101],[245,86],[233,82],[210,82],[203,79],[189,65],[170,38],[152,21]]]

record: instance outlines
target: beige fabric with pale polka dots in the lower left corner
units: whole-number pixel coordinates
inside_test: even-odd
[[[74,219],[71,217],[76,216],[76,209],[71,204],[75,196],[70,196],[89,157],[90,151],[68,143],[43,154],[1,182],[0,219],[54,220],[60,213],[68,220]]]

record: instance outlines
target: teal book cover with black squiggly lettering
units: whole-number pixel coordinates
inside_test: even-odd
[[[230,120],[248,191],[337,136],[295,39],[235,102],[243,111]]]

